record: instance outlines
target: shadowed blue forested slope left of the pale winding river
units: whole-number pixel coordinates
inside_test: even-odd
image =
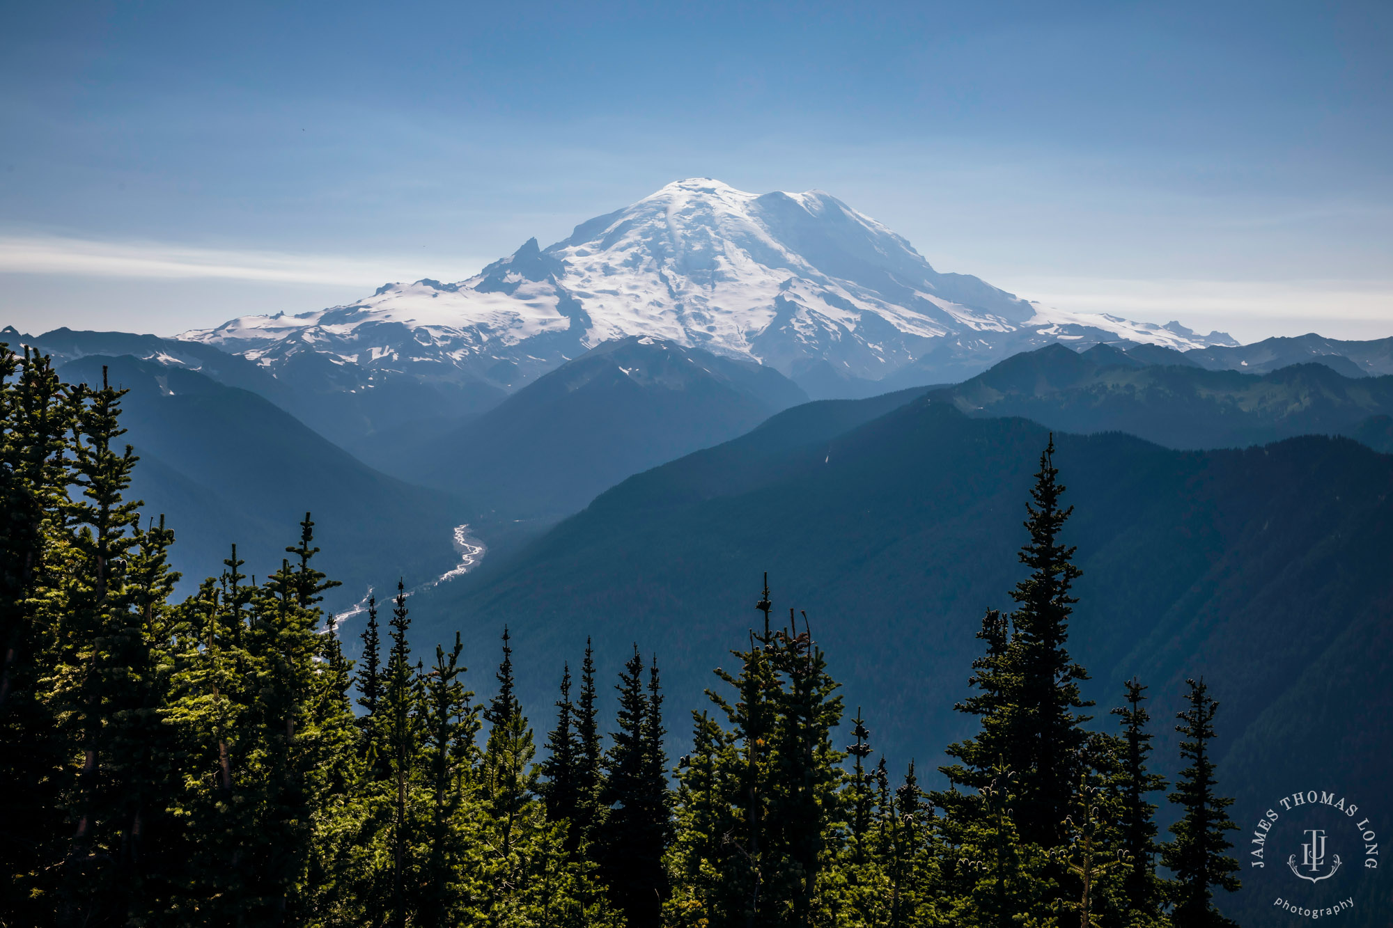
[[[467,521],[454,497],[379,474],[262,397],[194,371],[89,355],[59,373],[100,383],[103,365],[130,389],[121,425],[142,458],[130,496],[145,500],[143,514],[167,516],[185,582],[220,573],[234,542],[248,571],[279,567],[306,510],[320,569],[344,581],[332,608],[369,584],[419,582],[453,566],[451,532]]]

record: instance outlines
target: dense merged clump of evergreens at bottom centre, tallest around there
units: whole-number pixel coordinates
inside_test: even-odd
[[[670,917],[681,924],[808,925],[840,917],[843,752],[837,684],[808,631],[769,627],[717,670],[734,697],[708,691],[729,725],[695,718],[696,751],[680,766],[677,819],[696,823],[674,850]],[[807,617],[805,617],[807,620]]]

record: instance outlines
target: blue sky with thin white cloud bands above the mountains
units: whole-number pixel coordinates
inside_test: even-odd
[[[1393,334],[1393,4],[7,4],[0,325],[460,279],[663,184],[820,188],[940,270]]]

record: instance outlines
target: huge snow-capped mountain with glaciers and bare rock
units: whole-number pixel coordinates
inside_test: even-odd
[[[458,283],[391,283],[358,302],[242,316],[185,340],[270,368],[315,354],[373,372],[506,390],[598,344],[653,336],[797,376],[827,362],[878,380],[915,366],[976,372],[1050,341],[1237,344],[1178,323],[1045,309],[968,274],[935,270],[908,241],[841,201],[747,194],[691,178],[536,240]],[[347,373],[347,371],[343,371]],[[343,376],[338,378],[343,380]]]

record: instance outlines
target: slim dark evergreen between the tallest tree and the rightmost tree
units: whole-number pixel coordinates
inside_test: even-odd
[[[1123,726],[1120,769],[1114,784],[1120,793],[1119,829],[1121,849],[1126,854],[1123,892],[1133,920],[1158,920],[1160,917],[1162,883],[1156,878],[1156,805],[1146,801],[1149,793],[1166,789],[1166,778],[1151,773],[1146,761],[1151,757],[1151,732],[1146,723],[1151,713],[1142,702],[1146,701],[1146,687],[1135,679],[1127,681],[1127,705],[1113,709]]]

